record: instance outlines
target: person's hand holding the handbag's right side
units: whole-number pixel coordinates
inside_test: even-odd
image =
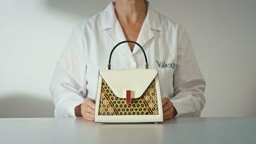
[[[177,114],[177,111],[170,99],[168,97],[163,97],[161,101],[163,106],[164,120],[174,118],[174,116]]]

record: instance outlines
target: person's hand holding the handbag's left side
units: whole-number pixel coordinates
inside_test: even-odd
[[[95,100],[90,98],[85,98],[81,104],[81,114],[82,117],[87,121],[94,121],[95,113]]]

